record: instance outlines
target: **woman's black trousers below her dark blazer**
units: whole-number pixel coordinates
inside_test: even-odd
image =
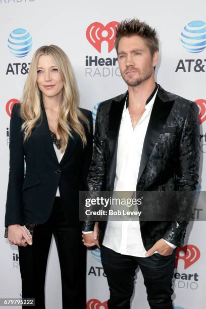
[[[35,308],[45,308],[45,273],[53,234],[61,268],[63,309],[85,309],[86,248],[80,226],[66,223],[60,197],[55,198],[49,220],[34,227],[33,244],[19,247],[22,297],[35,298]]]

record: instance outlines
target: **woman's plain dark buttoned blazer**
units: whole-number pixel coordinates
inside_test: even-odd
[[[23,142],[20,104],[15,104],[10,121],[10,172],[7,192],[5,226],[11,224],[41,224],[48,220],[59,186],[65,218],[71,225],[79,225],[79,190],[85,189],[92,156],[92,115],[87,117],[90,132],[85,128],[87,145],[72,130],[61,162],[58,162],[50,136],[46,113],[42,105],[42,122]],[[24,160],[26,173],[24,176]]]

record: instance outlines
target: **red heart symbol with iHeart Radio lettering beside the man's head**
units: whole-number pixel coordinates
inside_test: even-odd
[[[111,53],[114,49],[118,24],[119,22],[112,21],[104,26],[99,22],[94,22],[87,27],[86,38],[99,54],[105,53],[105,50],[102,52],[102,42],[107,43],[106,53]],[[86,56],[85,65],[86,77],[120,76],[119,67],[116,67],[118,65],[117,57]]]

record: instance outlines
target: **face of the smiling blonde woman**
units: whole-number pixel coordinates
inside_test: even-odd
[[[51,56],[41,55],[39,57],[36,82],[42,94],[47,97],[61,94],[64,82]]]

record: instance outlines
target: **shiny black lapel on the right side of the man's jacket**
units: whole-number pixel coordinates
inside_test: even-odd
[[[167,121],[173,104],[174,97],[169,97],[167,92],[160,87],[153,104],[146,135],[144,138],[137,183],[141,178],[144,169],[146,168],[146,164],[149,160],[151,152],[158,141],[159,135],[161,134],[162,128]]]

